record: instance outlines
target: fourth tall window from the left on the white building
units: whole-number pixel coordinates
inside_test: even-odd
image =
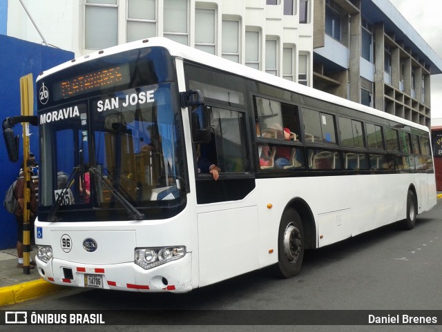
[[[215,54],[214,9],[195,9],[195,48]]]

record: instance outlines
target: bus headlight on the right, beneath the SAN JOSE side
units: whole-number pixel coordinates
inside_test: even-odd
[[[148,270],[155,266],[179,260],[186,255],[185,246],[168,246],[162,248],[136,248],[135,264]]]

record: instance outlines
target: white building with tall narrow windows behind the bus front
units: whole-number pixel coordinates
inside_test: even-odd
[[[119,43],[164,36],[311,85],[314,1],[281,2],[8,0],[8,35],[42,40],[26,16],[23,3],[48,43],[73,50],[77,56]]]

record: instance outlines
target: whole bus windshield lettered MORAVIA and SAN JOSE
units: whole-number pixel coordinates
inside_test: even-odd
[[[141,86],[40,113],[41,208],[60,195],[61,213],[121,208],[117,195],[135,208],[180,199],[182,147],[171,90],[171,83]]]

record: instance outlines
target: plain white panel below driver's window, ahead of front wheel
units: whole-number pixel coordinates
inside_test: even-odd
[[[198,213],[200,286],[259,268],[258,208]]]

